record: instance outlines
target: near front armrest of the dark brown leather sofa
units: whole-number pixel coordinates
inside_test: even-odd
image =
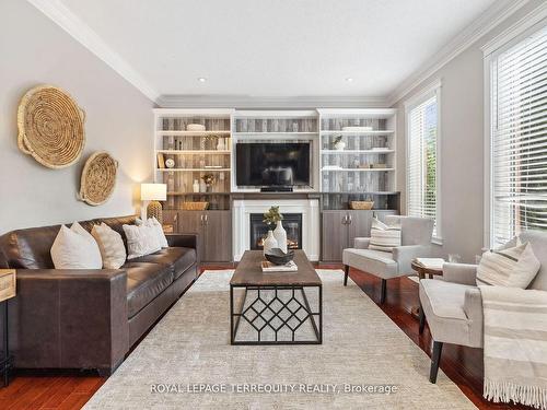
[[[124,270],[21,269],[10,303],[16,367],[114,370],[129,350]]]

